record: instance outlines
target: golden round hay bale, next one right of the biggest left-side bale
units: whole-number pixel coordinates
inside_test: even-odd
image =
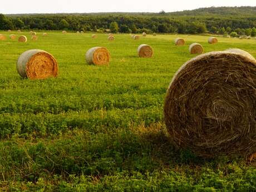
[[[109,65],[110,53],[105,47],[92,47],[86,52],[86,62],[94,65]]]

